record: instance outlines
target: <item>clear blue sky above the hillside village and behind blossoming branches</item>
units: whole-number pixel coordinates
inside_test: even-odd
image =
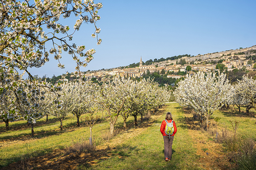
[[[94,59],[80,71],[115,68],[142,60],[182,54],[206,54],[256,45],[255,0],[94,0],[99,10],[101,45],[93,25],[84,23],[72,43],[94,48]],[[73,28],[75,20],[60,20]],[[63,52],[65,68],[50,61],[28,69],[32,75],[52,77],[75,71],[75,62]]]

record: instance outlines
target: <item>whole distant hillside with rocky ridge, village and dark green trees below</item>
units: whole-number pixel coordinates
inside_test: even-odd
[[[141,64],[140,64],[141,63]],[[239,73],[239,78],[247,73],[247,71],[254,71],[253,65],[256,63],[256,45],[249,48],[240,48],[235,50],[226,50],[216,53],[198,54],[191,56],[189,54],[167,57],[166,59],[150,59],[146,62],[132,63],[128,66],[121,66],[111,69],[101,69],[96,71],[80,72],[79,75],[72,73],[62,74],[60,76],[49,77],[36,77],[39,80],[46,80],[52,84],[63,83],[64,81],[79,81],[80,77],[93,80],[95,83],[100,83],[101,78],[105,76],[120,76],[120,77],[133,77],[136,79],[149,78],[158,82],[160,85],[174,84],[176,79],[187,74],[187,66],[190,66],[191,73],[193,71],[223,71],[234,70]],[[218,66],[217,66],[218,65]],[[242,72],[237,72],[242,70]],[[155,74],[157,73],[157,75]],[[241,73],[241,74],[240,74]],[[154,74],[154,75],[153,75]],[[177,77],[177,75],[179,75]],[[232,81],[236,81],[235,74],[232,75]],[[254,76],[254,75],[252,75]]]

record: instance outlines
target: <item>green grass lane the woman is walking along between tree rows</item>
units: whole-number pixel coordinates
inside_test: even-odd
[[[188,135],[184,114],[179,104],[168,104],[165,113],[167,111],[173,114],[173,119],[177,125],[171,161],[164,161],[163,136],[160,133],[160,125],[165,118],[165,114],[163,114],[146,131],[118,145],[113,151],[114,154],[117,154],[116,156],[101,161],[93,167],[82,165],[80,169],[199,169],[193,167],[197,159],[196,150],[193,147],[192,139]],[[123,157],[119,158],[118,156]]]

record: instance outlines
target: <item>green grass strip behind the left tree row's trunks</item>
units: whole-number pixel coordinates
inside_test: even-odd
[[[99,114],[101,116],[102,114]],[[82,117],[85,115],[82,115]],[[35,137],[31,138],[31,127],[27,126],[26,121],[17,121],[9,123],[10,130],[5,131],[5,123],[0,123],[0,139],[9,139],[11,141],[0,142],[0,167],[4,167],[12,162],[19,161],[23,156],[34,157],[46,155],[55,149],[62,149],[71,146],[74,142],[88,140],[90,130],[80,121],[81,127],[76,127],[76,117],[69,114],[63,120],[63,131],[60,131],[60,122],[56,117],[49,116],[49,121],[45,123],[46,117],[38,121],[35,126]],[[127,119],[127,124],[133,117]],[[116,122],[116,128],[123,126],[123,118],[119,116]],[[22,130],[16,130],[22,127]],[[96,131],[97,129],[97,131]],[[97,144],[103,142],[100,136],[101,132],[108,132],[109,122],[103,121],[93,127],[93,137]],[[14,141],[13,141],[14,139]],[[4,144],[8,144],[3,146]]]

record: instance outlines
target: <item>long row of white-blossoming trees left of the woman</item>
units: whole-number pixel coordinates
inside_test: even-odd
[[[93,115],[97,111],[107,111],[106,114],[110,118],[110,137],[112,137],[120,114],[124,119],[125,128],[129,116],[134,117],[137,126],[139,114],[142,120],[144,111],[164,105],[170,98],[166,88],[160,88],[157,83],[149,79],[137,81],[114,77],[104,81],[102,85],[88,80],[60,83],[55,87],[47,82],[38,82],[37,80],[24,80],[24,82],[26,82],[24,89],[17,95],[26,96],[26,99],[22,102],[13,102],[16,94],[10,89],[5,96],[1,97],[4,104],[0,106],[0,118],[6,123],[7,130],[9,121],[27,120],[31,125],[32,136],[36,121],[48,114],[59,119],[60,128],[63,130],[63,119],[68,114],[77,117],[77,126],[79,126],[82,114],[92,113],[91,115]],[[41,85],[38,86],[38,83]],[[24,95],[24,92],[27,94]]]

